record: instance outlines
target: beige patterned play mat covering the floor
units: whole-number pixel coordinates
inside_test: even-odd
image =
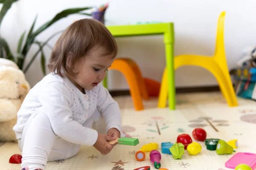
[[[197,93],[177,95],[177,109],[157,108],[157,99],[145,101],[145,110],[135,111],[131,97],[115,98],[122,109],[122,130],[140,143],[137,146],[117,144],[111,153],[101,155],[94,147],[82,146],[79,153],[66,160],[48,162],[47,170],[134,170],[138,167],[151,166],[149,153],[144,161],[137,161],[135,153],[144,144],[157,142],[161,152],[162,142],[175,143],[177,136],[187,133],[192,137],[192,130],[202,127],[207,138],[223,139],[226,142],[238,139],[237,152],[256,153],[256,102],[238,99],[239,106],[228,107],[220,93]],[[195,141],[192,138],[193,142]],[[198,142],[202,151],[191,156],[185,150],[182,159],[173,159],[163,154],[161,168],[169,170],[229,170],[225,162],[235,153],[218,155],[207,150],[204,142]],[[15,143],[0,143],[0,169],[19,170],[20,164],[9,164],[9,158],[20,153]]]

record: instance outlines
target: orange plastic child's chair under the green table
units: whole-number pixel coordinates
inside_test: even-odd
[[[129,58],[117,58],[108,70],[117,70],[124,75],[130,87],[135,110],[143,110],[144,106],[142,99],[148,100],[149,97],[145,81],[136,62]],[[105,81],[107,81],[107,79],[105,79]]]

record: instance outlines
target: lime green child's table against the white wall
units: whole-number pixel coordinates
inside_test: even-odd
[[[168,73],[169,108],[175,110],[175,70],[174,70],[174,26],[173,23],[154,23],[127,26],[107,26],[114,37],[129,37],[162,34],[165,43],[166,68]],[[107,88],[106,78],[103,86]]]

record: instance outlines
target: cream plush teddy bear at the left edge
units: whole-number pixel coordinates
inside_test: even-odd
[[[17,142],[12,128],[17,122],[17,111],[30,90],[23,72],[13,63],[0,63],[0,141]],[[2,65],[1,65],[2,64]]]

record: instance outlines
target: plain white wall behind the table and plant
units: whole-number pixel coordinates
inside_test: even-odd
[[[12,6],[3,20],[1,34],[15,52],[17,42],[25,29],[29,29],[38,14],[36,28],[50,20],[56,13],[72,7],[96,6],[106,0],[20,0]],[[133,24],[138,21],[175,23],[175,55],[192,53],[212,55],[215,47],[215,31],[218,15],[226,13],[225,47],[229,68],[236,67],[242,50],[255,45],[256,24],[254,0],[110,0],[106,12],[106,25]],[[84,16],[73,15],[55,23],[38,36],[44,41],[49,35],[66,28],[74,20]],[[50,41],[53,46],[58,36]],[[123,37],[116,39],[121,57],[131,57],[139,64],[143,76],[161,80],[165,67],[162,36]],[[33,47],[29,57],[37,50]],[[49,57],[50,50],[45,48]],[[27,60],[28,61],[28,60]],[[27,63],[27,62],[26,62]],[[26,73],[33,86],[43,77],[40,57]],[[115,80],[113,81],[113,77]],[[122,74],[110,71],[110,89],[128,89]],[[216,85],[208,71],[197,67],[183,67],[175,72],[177,87]]]

